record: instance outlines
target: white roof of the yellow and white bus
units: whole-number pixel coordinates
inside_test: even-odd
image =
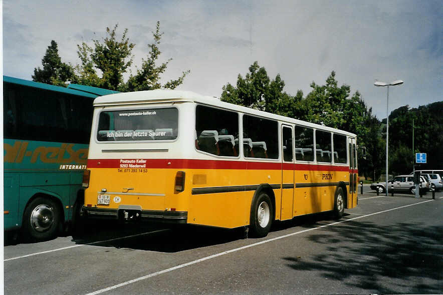
[[[308,127],[318,128],[326,131],[333,131],[348,136],[356,137],[354,133],[347,132],[344,130],[327,127],[319,124],[314,124],[299,119],[285,117],[282,115],[273,114],[270,112],[221,101],[217,97],[205,96],[192,91],[155,89],[155,90],[145,90],[145,91],[135,91],[135,92],[121,92],[121,93],[109,94],[106,96],[97,97],[94,100],[94,106],[143,104],[143,103],[157,103],[157,102],[158,103],[185,102],[185,101],[217,106],[225,109],[231,109],[243,113],[248,113],[266,118],[272,118],[288,123],[304,125]]]

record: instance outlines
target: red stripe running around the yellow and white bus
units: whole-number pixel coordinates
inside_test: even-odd
[[[128,160],[134,160],[128,163]],[[88,159],[88,168],[140,168],[142,162],[137,159]],[[140,159],[138,159],[140,160]],[[240,169],[240,170],[314,170],[314,171],[349,171],[348,166],[321,165],[321,164],[293,164],[280,162],[252,162],[252,161],[226,161],[226,160],[197,160],[197,159],[143,159],[148,169]],[[128,164],[128,166],[120,166]],[[131,166],[132,165],[132,166]]]

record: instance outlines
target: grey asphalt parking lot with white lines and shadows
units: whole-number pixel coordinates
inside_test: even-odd
[[[365,191],[365,186],[363,187]],[[442,293],[443,192],[359,195],[327,213],[243,228],[94,222],[4,247],[5,294]]]

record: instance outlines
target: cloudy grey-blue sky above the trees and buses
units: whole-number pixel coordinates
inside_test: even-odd
[[[379,118],[386,117],[386,87],[374,80],[404,80],[390,87],[389,109],[443,100],[443,1],[187,1],[4,0],[3,70],[31,79],[54,39],[65,62],[79,63],[77,44],[92,44],[106,27],[128,28],[134,65],[164,32],[164,79],[190,69],[179,87],[220,96],[257,60],[285,91],[306,95],[332,70],[339,84],[360,91]]]

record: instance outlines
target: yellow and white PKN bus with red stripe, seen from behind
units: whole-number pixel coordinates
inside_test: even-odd
[[[274,220],[357,204],[356,135],[190,91],[94,101],[88,218],[153,219],[266,236]]]

